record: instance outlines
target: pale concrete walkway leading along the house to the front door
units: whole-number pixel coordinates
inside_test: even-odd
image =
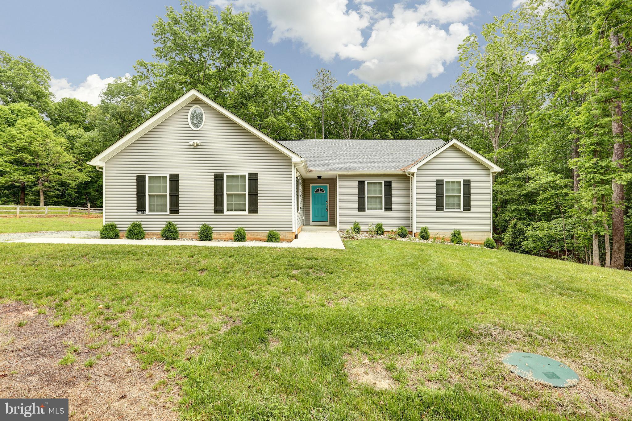
[[[305,229],[307,228],[307,229]],[[341,249],[344,245],[336,227],[303,227],[298,239],[292,242],[234,242],[193,240],[109,240],[95,238],[51,238],[32,237],[7,242],[31,242],[40,244],[133,244],[137,246],[203,246],[203,247],[294,247],[317,249]]]

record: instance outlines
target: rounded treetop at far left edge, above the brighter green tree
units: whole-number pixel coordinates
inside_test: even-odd
[[[51,107],[51,75],[29,59],[0,50],[0,105],[25,104],[46,114]]]

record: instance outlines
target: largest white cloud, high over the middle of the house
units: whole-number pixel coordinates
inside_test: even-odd
[[[227,0],[211,0],[224,6]],[[391,16],[370,0],[234,0],[236,9],[264,11],[271,42],[301,42],[325,61],[339,57],[360,62],[355,74],[368,83],[421,83],[444,71],[469,35],[461,21],[477,10],[466,0],[427,0],[414,8],[398,3]],[[448,24],[448,28],[441,25]],[[439,25],[439,26],[437,26]],[[365,40],[363,30],[370,30]]]

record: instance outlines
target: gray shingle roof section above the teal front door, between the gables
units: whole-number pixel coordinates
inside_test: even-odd
[[[279,140],[312,171],[404,170],[444,145],[441,139]]]

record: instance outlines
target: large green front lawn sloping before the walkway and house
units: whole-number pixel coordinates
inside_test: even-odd
[[[83,314],[95,335],[131,342],[181,379],[186,420],[630,416],[631,273],[475,247],[345,246],[0,244],[0,300],[58,324]],[[580,385],[514,376],[501,363],[513,350],[571,364]],[[346,359],[365,358],[396,388],[349,381]]]

